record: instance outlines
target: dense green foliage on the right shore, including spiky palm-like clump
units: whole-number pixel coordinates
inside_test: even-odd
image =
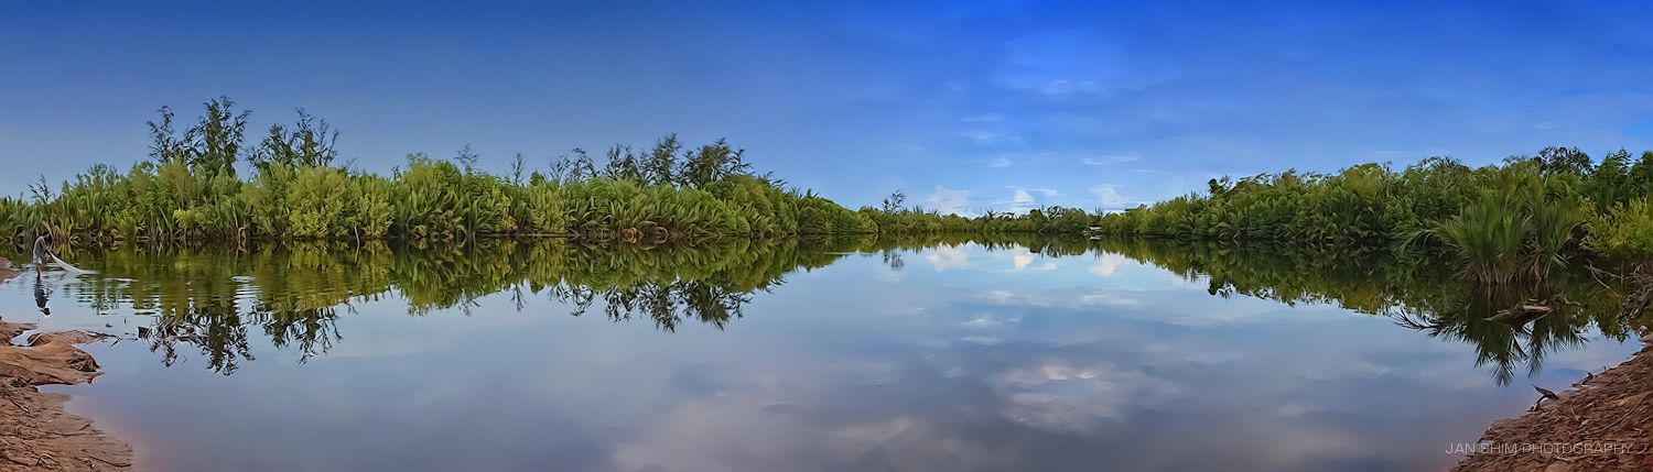
[[[1212,180],[1187,195],[1101,218],[1108,234],[1291,241],[1446,249],[1463,276],[1483,282],[1542,279],[1579,253],[1653,257],[1653,152],[1632,163],[1577,149],[1471,168],[1427,158],[1400,172],[1365,163],[1334,175],[1265,173]]]

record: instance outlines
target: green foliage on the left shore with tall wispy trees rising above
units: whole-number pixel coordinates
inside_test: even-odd
[[[149,124],[150,158],[126,172],[96,165],[56,190],[0,198],[0,234],[68,243],[246,239],[441,239],[559,234],[626,243],[722,236],[1060,231],[1093,216],[1045,208],[980,218],[906,206],[848,210],[752,172],[744,150],[717,140],[686,149],[674,135],[636,150],[582,149],[511,175],[476,168],[469,147],[451,158],[412,153],[388,177],[339,165],[339,132],[299,111],[246,145],[248,112],[220,97],[182,132],[172,109]],[[248,175],[236,175],[241,168]]]

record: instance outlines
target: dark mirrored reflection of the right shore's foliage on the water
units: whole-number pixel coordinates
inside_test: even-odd
[[[1537,375],[1546,353],[1584,347],[1592,327],[1615,340],[1632,332],[1632,322],[1617,315],[1623,287],[1598,282],[1582,269],[1552,274],[1542,286],[1489,287],[1458,281],[1450,264],[1428,254],[1112,239],[1099,244],[1189,281],[1205,276],[1213,295],[1336,304],[1392,317],[1430,337],[1471,343],[1476,366],[1489,365],[1501,385],[1514,380],[1516,366]]]

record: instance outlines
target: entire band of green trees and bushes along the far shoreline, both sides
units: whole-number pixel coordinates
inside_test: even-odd
[[[248,112],[226,97],[179,130],[160,109],[150,158],[96,165],[30,195],[0,198],[0,236],[114,241],[473,241],[555,234],[605,241],[782,234],[1093,233],[1185,241],[1289,241],[1331,248],[1445,249],[1483,282],[1544,279],[1580,254],[1653,259],[1653,152],[1600,160],[1551,147],[1471,168],[1433,157],[1402,170],[1263,173],[1208,183],[1122,213],[1035,208],[975,218],[906,205],[850,210],[760,175],[717,140],[684,147],[582,149],[509,175],[478,170],[469,147],[451,158],[413,153],[388,175],[339,163],[339,132],[304,111],[246,142]],[[238,175],[238,170],[241,175]]]

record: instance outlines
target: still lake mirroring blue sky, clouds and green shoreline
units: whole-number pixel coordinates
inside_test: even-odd
[[[21,251],[10,251],[13,261]],[[122,340],[142,470],[1430,470],[1640,348],[1440,262],[929,238],[78,251],[0,317]],[[1526,323],[1484,320],[1564,300]],[[40,304],[50,309],[50,317]]]

